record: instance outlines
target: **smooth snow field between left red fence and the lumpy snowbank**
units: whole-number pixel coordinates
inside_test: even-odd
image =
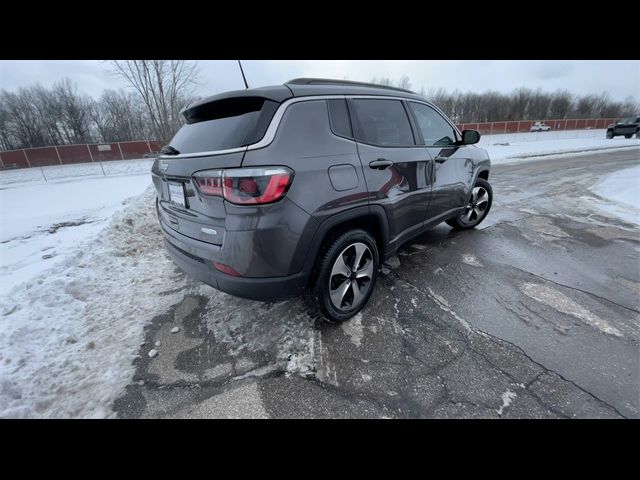
[[[150,183],[147,173],[0,189],[0,295],[68,258]]]

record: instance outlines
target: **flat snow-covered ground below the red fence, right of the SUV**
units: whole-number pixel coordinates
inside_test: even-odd
[[[587,150],[640,146],[640,139],[607,139],[605,134],[606,130],[576,130],[483,135],[478,146],[489,153],[494,165],[531,160],[531,157],[551,160],[558,155],[580,154]]]

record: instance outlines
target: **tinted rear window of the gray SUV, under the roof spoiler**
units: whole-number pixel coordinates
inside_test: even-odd
[[[244,147],[262,139],[279,103],[259,97],[218,100],[185,111],[170,145],[179,153]]]

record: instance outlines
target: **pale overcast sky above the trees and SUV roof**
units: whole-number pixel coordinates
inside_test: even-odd
[[[243,60],[250,87],[281,84],[295,77],[347,78],[369,82],[372,78],[398,79],[408,75],[413,90],[444,87],[447,90],[511,92],[532,89],[568,89],[573,93],[608,92],[614,100],[634,96],[640,100],[640,61],[628,60]],[[201,60],[197,94],[213,95],[244,87],[235,60]],[[126,84],[97,60],[0,60],[0,88],[41,83],[51,86],[69,77],[79,90],[93,97],[106,88]]]

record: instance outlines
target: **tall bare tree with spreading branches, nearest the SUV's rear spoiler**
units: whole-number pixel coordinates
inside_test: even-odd
[[[169,142],[182,124],[180,110],[193,94],[197,64],[185,60],[114,60],[111,64],[142,98],[155,137]]]

